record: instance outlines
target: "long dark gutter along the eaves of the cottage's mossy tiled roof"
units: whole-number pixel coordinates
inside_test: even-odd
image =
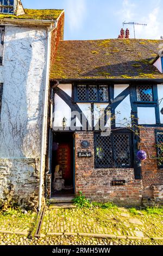
[[[59,83],[74,83],[74,82],[81,82],[81,83],[90,83],[90,82],[98,82],[98,83],[163,83],[163,78],[51,78],[51,83],[58,81]]]

